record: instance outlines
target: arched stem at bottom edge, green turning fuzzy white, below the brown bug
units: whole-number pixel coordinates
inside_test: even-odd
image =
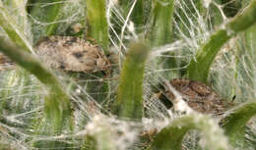
[[[162,128],[148,150],[181,150],[182,139],[190,129],[202,131],[204,143],[211,150],[229,149],[224,132],[218,124],[210,117],[196,113],[175,119]]]

